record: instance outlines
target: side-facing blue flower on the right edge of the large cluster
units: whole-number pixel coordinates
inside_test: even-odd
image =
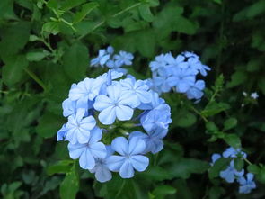
[[[146,132],[154,131],[156,128],[168,129],[169,123],[172,122],[169,105],[160,104],[144,114],[140,122]]]

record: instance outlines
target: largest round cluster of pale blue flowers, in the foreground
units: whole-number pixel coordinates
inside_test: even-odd
[[[111,171],[130,178],[135,170],[146,170],[146,153],[163,149],[172,122],[169,105],[146,81],[120,79],[122,75],[109,70],[84,78],[71,86],[63,102],[68,122],[57,132],[57,140],[69,141],[70,157],[79,158],[80,167],[100,182],[110,180]]]

